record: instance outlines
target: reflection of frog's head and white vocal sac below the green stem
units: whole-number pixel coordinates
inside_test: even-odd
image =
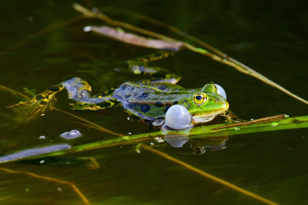
[[[216,136],[216,137],[204,137],[204,138],[192,138],[188,137],[189,130],[186,133],[180,135],[165,135],[165,141],[171,144],[173,147],[182,147],[185,143],[193,149],[194,154],[203,154],[206,151],[219,151],[227,148],[225,142],[229,139],[229,136]]]

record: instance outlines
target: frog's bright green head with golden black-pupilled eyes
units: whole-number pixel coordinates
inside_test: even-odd
[[[224,97],[226,98],[224,89],[217,84],[206,84],[200,91],[194,92],[187,106],[193,116],[193,123],[208,122],[225,112],[229,103]]]

